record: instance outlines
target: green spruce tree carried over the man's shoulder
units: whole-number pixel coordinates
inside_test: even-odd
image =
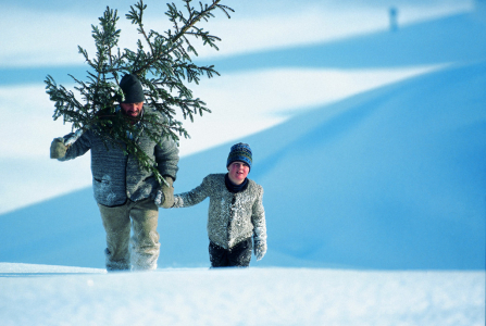
[[[130,5],[126,18],[141,36],[134,50],[119,48],[121,29],[116,28],[120,18],[117,10],[107,7],[99,17],[99,26],[91,25],[97,49],[95,57],[89,57],[78,46],[78,52],[89,68],[86,80],[70,75],[77,93],[57,85],[50,75],[46,77],[46,92],[55,106],[54,121],[62,117],[64,123],[72,123],[75,131],[66,141],[67,146],[90,129],[103,140],[107,150],[109,145],[120,146],[126,155],[137,158],[142,168],[152,171],[159,183],[165,181],[155,168],[155,162],[150,161],[129,134],[139,131],[141,126],[144,133],[158,143],[162,140],[161,135],[178,143],[179,136],[189,135],[183,122],[176,118],[177,111],[182,112],[184,120],[189,118],[191,122],[194,115],[211,112],[201,99],[192,95],[188,85],[199,84],[203,76],[211,78],[220,74],[213,65],[199,66],[192,62],[192,57],[198,55],[192,42],[199,40],[202,46],[219,50],[216,42],[221,39],[200,27],[200,23],[214,17],[216,10],[228,18],[229,12],[233,12],[233,9],[221,4],[221,0],[212,0],[209,4],[199,2],[197,8],[192,7],[191,0],[182,2],[182,10],[174,3],[167,3],[165,15],[173,27],[164,33],[146,28],[142,18],[147,5],[142,0]],[[144,87],[145,104],[162,113],[165,121],[160,121],[157,114],[145,112],[134,124],[129,117],[121,114],[117,104],[123,101],[123,91],[119,83],[125,74],[138,77]]]

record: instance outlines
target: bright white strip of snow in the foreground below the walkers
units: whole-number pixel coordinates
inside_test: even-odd
[[[482,272],[5,267],[2,325],[484,325]]]

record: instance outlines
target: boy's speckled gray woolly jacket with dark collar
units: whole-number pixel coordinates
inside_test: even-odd
[[[229,249],[253,236],[254,241],[266,243],[263,188],[248,179],[244,191],[229,192],[225,174],[210,174],[191,191],[176,195],[174,208],[187,208],[210,198],[208,236],[220,247]]]

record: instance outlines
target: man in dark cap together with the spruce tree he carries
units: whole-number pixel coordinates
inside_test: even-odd
[[[140,35],[135,50],[119,47],[117,10],[107,7],[99,26],[91,25],[95,57],[78,46],[89,70],[85,80],[70,75],[77,93],[50,75],[45,80],[55,106],[54,121],[62,117],[74,131],[52,141],[51,158],[67,161],[91,150],[92,188],[107,231],[108,271],[157,268],[158,208],[174,203],[177,143],[179,136],[189,136],[176,112],[191,122],[195,115],[211,112],[188,84],[219,75],[213,65],[192,62],[191,55],[198,54],[190,39],[217,50],[215,42],[221,39],[200,23],[214,17],[216,10],[229,18],[233,9],[221,1],[198,1],[194,7],[191,0],[183,0],[184,10],[167,3],[165,15],[172,28],[159,33],[142,22],[147,4],[138,0],[125,15]]]

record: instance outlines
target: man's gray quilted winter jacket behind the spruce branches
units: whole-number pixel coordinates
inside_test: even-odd
[[[151,109],[144,106],[144,110]],[[163,118],[162,115],[160,118]],[[179,160],[176,143],[164,137],[162,146],[158,146],[142,129],[135,140],[157,162],[160,174],[169,175],[175,180]],[[98,203],[115,206],[125,203],[127,199],[139,201],[155,197],[159,183],[153,173],[141,168],[137,159],[125,155],[119,146],[109,145],[107,150],[103,141],[91,130],[85,131],[67,149],[65,156],[59,160],[72,160],[88,150],[91,150],[92,190]]]

